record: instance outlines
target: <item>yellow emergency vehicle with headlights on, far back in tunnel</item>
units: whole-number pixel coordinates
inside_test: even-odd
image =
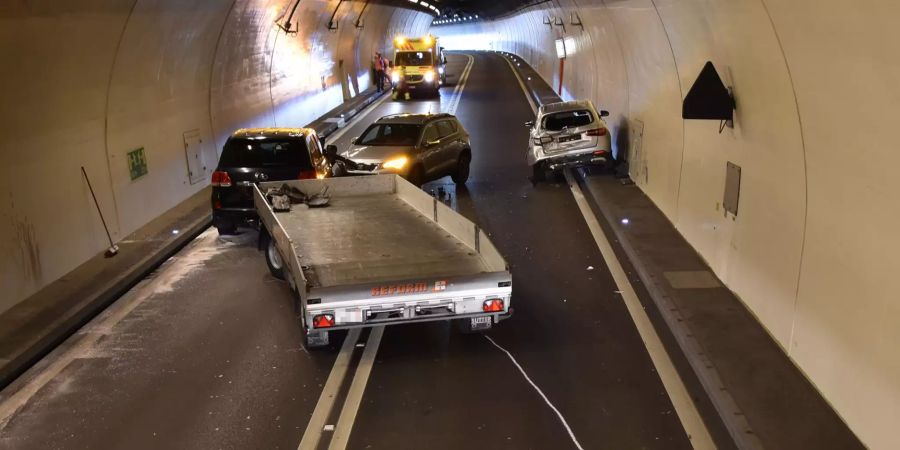
[[[436,37],[430,34],[420,38],[398,36],[394,39],[394,63],[391,67],[394,98],[402,95],[408,99],[413,92],[436,97],[446,81],[446,64],[444,49],[438,46]]]

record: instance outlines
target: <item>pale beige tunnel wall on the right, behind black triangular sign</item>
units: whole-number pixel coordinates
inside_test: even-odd
[[[871,448],[900,424],[900,4],[560,0],[432,29],[611,111],[631,175]],[[583,24],[583,28],[576,23]],[[551,25],[545,24],[549,21]],[[711,60],[734,128],[681,119]],[[741,166],[737,216],[722,207]],[[761,367],[760,370],[765,370]]]

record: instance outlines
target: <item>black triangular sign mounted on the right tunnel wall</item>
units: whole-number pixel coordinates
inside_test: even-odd
[[[684,98],[682,119],[732,120],[734,100],[719,78],[712,61],[707,61]]]

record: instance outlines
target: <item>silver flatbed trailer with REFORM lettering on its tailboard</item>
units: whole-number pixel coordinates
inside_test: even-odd
[[[328,205],[276,212],[265,192],[285,184],[325,191]],[[333,330],[454,320],[479,331],[512,313],[512,275],[487,234],[400,176],[259,183],[254,202],[309,347]]]

